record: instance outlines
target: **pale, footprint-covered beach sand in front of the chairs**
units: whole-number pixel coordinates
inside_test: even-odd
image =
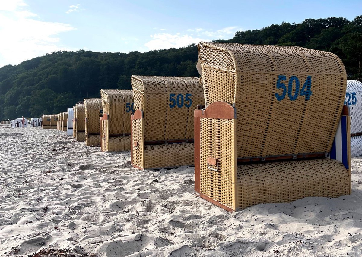
[[[21,134],[14,134],[21,133]],[[362,159],[350,196],[228,213],[195,197],[194,169],[140,171],[65,132],[0,126],[0,256],[361,256]]]

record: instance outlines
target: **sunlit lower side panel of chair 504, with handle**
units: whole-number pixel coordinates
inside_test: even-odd
[[[202,118],[200,122],[200,193],[235,209],[235,120]],[[207,157],[218,166],[209,167]]]

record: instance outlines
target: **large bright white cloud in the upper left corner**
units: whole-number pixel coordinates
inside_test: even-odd
[[[19,64],[62,47],[59,33],[74,30],[69,24],[38,20],[23,0],[2,0],[0,5],[0,67]]]

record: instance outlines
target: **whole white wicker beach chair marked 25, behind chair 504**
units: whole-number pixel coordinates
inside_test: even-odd
[[[362,82],[347,80],[344,104],[351,116],[351,156],[362,155]]]

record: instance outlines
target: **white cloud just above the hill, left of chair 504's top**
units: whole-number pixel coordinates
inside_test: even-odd
[[[189,44],[197,44],[200,41],[210,41],[210,39],[202,38],[193,38],[189,35],[181,35],[177,33],[176,35],[159,33],[150,35],[152,38],[144,46],[148,47],[150,50],[159,50],[159,49],[168,49],[168,48],[180,48],[188,46]]]

